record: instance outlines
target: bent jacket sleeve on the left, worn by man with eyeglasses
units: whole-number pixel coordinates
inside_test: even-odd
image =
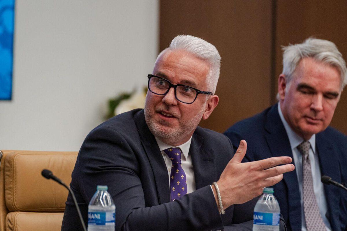
[[[134,146],[112,128],[96,128],[82,145],[74,170],[86,202],[95,193],[96,185],[108,185],[116,205],[116,230],[223,229],[210,186],[178,201],[146,207],[139,178],[144,166],[139,166],[133,149]]]

